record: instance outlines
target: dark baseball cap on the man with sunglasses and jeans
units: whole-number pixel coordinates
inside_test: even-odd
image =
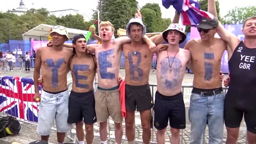
[[[219,20],[217,18],[214,17],[213,19],[209,19],[204,17],[196,27],[202,29],[213,29],[218,28],[218,26]]]

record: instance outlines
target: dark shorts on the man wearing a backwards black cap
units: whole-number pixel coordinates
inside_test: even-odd
[[[93,91],[78,93],[71,91],[68,102],[68,123],[93,124],[97,121]]]

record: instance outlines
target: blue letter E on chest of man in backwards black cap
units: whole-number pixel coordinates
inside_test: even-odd
[[[74,72],[75,79],[76,79],[76,87],[80,87],[80,88],[83,88],[83,89],[89,89],[89,85],[79,83],[79,79],[86,80],[87,76],[78,74],[78,71],[89,70],[89,67],[90,67],[89,65],[73,65],[73,72]]]

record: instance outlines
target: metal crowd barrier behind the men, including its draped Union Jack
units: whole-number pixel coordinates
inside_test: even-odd
[[[68,83],[68,90],[71,92],[72,82]],[[97,87],[97,83],[94,82],[94,90]],[[155,92],[157,85],[150,84],[151,94],[153,96],[153,101],[155,101]],[[16,117],[19,121],[37,125],[38,121],[38,107],[39,103],[34,102],[34,81],[32,78],[21,78],[21,77],[10,77],[3,76],[0,77],[0,117],[12,115]],[[185,91],[191,92],[192,86],[182,86],[182,93]],[[228,89],[224,88],[225,93]],[[42,86],[39,86],[39,91],[42,91]],[[154,110],[151,109],[153,116]],[[186,115],[188,118],[188,115]],[[154,119],[154,117],[153,117]],[[134,119],[135,121],[135,119]],[[124,123],[123,123],[124,124]],[[113,125],[111,118],[108,119],[108,138],[114,138],[114,130],[110,125]],[[141,123],[135,122],[135,127],[140,126]],[[22,129],[22,128],[21,128]],[[99,124],[94,124],[94,130],[99,129]],[[52,126],[52,130],[55,129],[55,124]],[[156,129],[153,127],[151,129],[151,143],[156,143]],[[241,132],[241,131],[240,131]],[[180,131],[181,134],[181,143],[183,143],[183,130]],[[95,134],[95,137],[99,137],[99,133]],[[136,137],[136,135],[135,135]],[[76,129],[68,132],[67,138],[76,141]],[[205,137],[204,137],[205,138]],[[126,139],[126,136],[123,135],[123,139]],[[166,138],[167,139],[167,138]],[[135,139],[137,142],[142,142],[142,139]],[[203,140],[204,141],[204,140]]]

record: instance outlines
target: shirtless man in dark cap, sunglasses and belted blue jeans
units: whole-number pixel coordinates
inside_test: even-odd
[[[189,66],[194,73],[189,107],[190,143],[201,143],[206,123],[209,143],[222,143],[225,93],[219,75],[226,45],[222,39],[214,38],[218,23],[216,18],[204,18],[197,25],[201,39],[191,39],[185,45],[191,53]]]

